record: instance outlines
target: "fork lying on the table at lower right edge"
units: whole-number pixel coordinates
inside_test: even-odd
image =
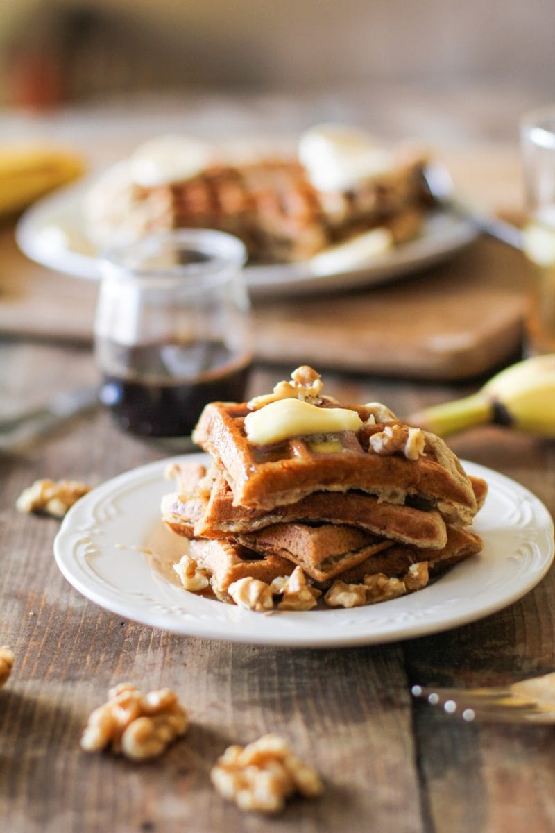
[[[510,686],[431,688],[413,686],[414,697],[442,706],[463,721],[555,723],[555,672],[529,677]]]

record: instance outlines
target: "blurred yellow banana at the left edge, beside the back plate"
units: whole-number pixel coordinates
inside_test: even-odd
[[[53,188],[82,176],[77,153],[45,145],[0,144],[0,220],[15,216]]]

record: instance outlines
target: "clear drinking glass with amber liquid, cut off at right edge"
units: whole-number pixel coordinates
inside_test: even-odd
[[[528,222],[524,252],[533,263],[527,352],[555,352],[555,105],[527,113],[520,125]]]

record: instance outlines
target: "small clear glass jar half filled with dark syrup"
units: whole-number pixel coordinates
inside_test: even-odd
[[[236,237],[184,229],[99,260],[101,400],[121,428],[189,436],[207,402],[242,401],[252,358],[245,259]]]

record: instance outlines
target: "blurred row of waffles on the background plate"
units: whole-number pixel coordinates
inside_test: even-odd
[[[132,170],[108,172],[87,196],[87,233],[109,247],[173,228],[215,228],[240,237],[259,263],[303,261],[375,228],[404,242],[429,208],[423,165],[421,152],[402,148],[387,170],[329,190],[295,156],[274,154],[248,162],[222,155],[189,177],[147,185]]]

